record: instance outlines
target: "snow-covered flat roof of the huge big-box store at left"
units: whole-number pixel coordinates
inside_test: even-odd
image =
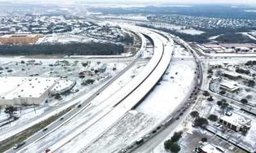
[[[41,77],[1,77],[0,84],[4,89],[0,89],[1,98],[13,99],[20,97],[38,98],[45,91],[51,89],[54,82],[59,78]],[[6,90],[7,89],[7,90]]]

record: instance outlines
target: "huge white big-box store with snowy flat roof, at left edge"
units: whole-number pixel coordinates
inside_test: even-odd
[[[40,105],[60,78],[0,77],[0,105]]]

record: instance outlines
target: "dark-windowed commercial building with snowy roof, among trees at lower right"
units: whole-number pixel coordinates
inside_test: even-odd
[[[238,132],[242,131],[243,128],[250,128],[252,120],[236,112],[228,112],[225,116],[218,119],[218,122],[223,126]]]

